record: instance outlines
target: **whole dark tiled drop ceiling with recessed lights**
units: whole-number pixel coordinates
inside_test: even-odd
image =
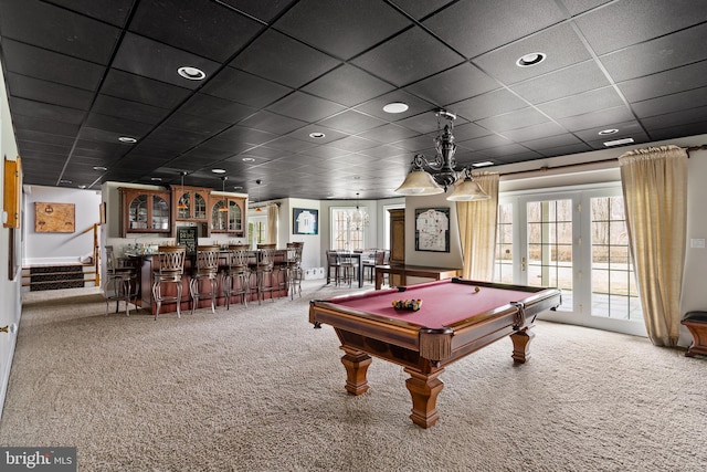
[[[707,133],[704,44],[693,0],[0,0],[25,183],[223,167],[258,200],[392,197],[440,108],[460,165]]]

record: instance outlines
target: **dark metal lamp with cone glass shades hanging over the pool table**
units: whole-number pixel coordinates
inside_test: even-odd
[[[472,170],[467,167],[456,170],[456,145],[454,144],[454,120],[456,115],[445,109],[440,109],[437,116],[437,136],[434,138],[436,155],[429,161],[422,154],[412,158],[412,169],[395,193],[404,196],[424,196],[446,192],[454,186],[454,191],[446,198],[451,201],[488,200],[486,193],[472,177]],[[441,130],[440,122],[444,118],[449,123]]]

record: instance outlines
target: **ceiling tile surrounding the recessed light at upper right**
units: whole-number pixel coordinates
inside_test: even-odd
[[[531,53],[545,53],[547,56],[529,67],[517,65],[520,57]],[[591,59],[572,27],[562,23],[483,54],[473,62],[492,77],[514,84]]]

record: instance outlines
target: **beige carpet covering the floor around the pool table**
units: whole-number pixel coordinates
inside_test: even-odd
[[[334,331],[300,300],[215,315],[105,316],[98,295],[28,294],[2,445],[75,445],[81,471],[704,471],[707,360],[644,338],[538,323],[453,364],[429,430],[402,368],[344,390]],[[42,300],[50,296],[48,300]],[[63,297],[63,298],[60,298]],[[113,307],[114,308],[114,307]]]

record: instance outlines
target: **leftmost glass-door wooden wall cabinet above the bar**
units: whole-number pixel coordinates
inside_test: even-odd
[[[170,233],[169,191],[120,188],[123,220],[120,238],[127,233]]]

